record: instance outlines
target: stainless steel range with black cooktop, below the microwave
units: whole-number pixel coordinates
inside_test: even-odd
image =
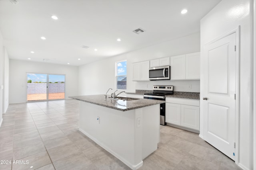
[[[153,86],[153,93],[144,93],[144,99],[165,100],[166,95],[173,94],[173,86]],[[165,123],[165,103],[160,104],[160,124]]]

